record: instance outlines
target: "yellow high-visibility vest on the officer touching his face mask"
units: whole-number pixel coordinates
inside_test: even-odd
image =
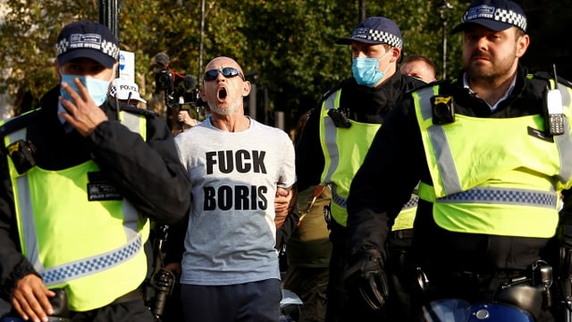
[[[146,139],[145,116],[121,116]],[[26,130],[6,135],[4,145],[26,140]],[[57,171],[34,166],[18,174],[7,159],[22,253],[48,288],[66,290],[69,309],[103,307],[144,281],[148,220],[126,199],[88,200],[94,183],[88,174],[99,172],[95,162]]]

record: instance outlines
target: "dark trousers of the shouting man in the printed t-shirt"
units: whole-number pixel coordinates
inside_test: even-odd
[[[282,291],[278,279],[233,285],[181,284],[184,321],[277,322]]]

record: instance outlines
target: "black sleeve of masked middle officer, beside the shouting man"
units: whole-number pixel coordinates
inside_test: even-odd
[[[324,152],[320,143],[320,108],[314,108],[296,145],[296,181],[298,191],[320,183],[324,171]]]

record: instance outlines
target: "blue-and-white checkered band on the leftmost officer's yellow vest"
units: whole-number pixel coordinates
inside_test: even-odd
[[[117,266],[132,258],[141,250],[141,238],[130,242],[119,250],[114,250],[95,258],[82,259],[60,267],[52,267],[42,272],[46,285],[59,284],[84,275],[92,275],[98,271]]]

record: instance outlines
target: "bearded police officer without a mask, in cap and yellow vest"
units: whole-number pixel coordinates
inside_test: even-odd
[[[494,299],[551,320],[555,265],[541,252],[559,223],[559,191],[572,185],[572,89],[519,65],[529,37],[512,1],[475,1],[454,32],[464,72],[404,97],[351,184],[348,287],[383,305],[388,224],[421,181],[411,264],[425,293],[416,300]]]

